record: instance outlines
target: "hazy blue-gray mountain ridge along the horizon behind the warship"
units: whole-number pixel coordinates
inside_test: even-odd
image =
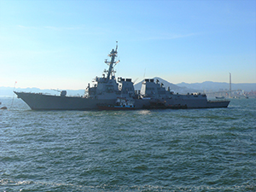
[[[218,90],[230,90],[230,84],[229,83],[219,83],[219,82],[212,82],[212,81],[205,81],[202,83],[194,83],[194,84],[188,84],[188,83],[180,83],[180,84],[172,84],[165,79],[161,79],[159,77],[154,77],[154,82],[156,79],[160,81],[160,83],[164,84],[164,87],[170,87],[170,89],[174,92],[178,93],[188,93],[188,92],[203,92],[205,91],[218,91]],[[135,90],[140,90],[142,87],[143,81],[134,84]],[[256,84],[231,84],[232,90],[245,90],[245,91],[251,91],[256,90]],[[13,96],[14,88],[13,87],[0,87],[0,96]],[[58,91],[55,90],[41,90],[38,88],[15,88],[17,91],[25,91],[25,92],[42,92],[42,93],[49,93],[52,95],[60,95]],[[83,96],[84,90],[67,90],[67,96]]]

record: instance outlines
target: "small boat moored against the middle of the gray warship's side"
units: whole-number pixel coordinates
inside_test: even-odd
[[[102,103],[97,105],[100,110],[134,110],[136,109],[133,102],[128,101],[125,97],[118,97],[115,104]]]

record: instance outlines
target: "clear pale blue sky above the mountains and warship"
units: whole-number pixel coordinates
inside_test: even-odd
[[[0,86],[84,89],[116,76],[256,83],[256,1],[0,0]]]

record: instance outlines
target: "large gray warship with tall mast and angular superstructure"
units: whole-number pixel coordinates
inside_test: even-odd
[[[118,45],[108,54],[108,70],[104,70],[102,77],[96,77],[93,84],[88,84],[84,96],[67,96],[66,90],[61,90],[59,96],[14,91],[32,110],[111,110],[117,105],[119,98],[132,103],[134,109],[160,108],[227,108],[230,101],[208,101],[207,96],[201,93],[187,95],[174,94],[158,80],[144,79],[141,90],[135,90],[131,79],[115,78],[113,68],[119,63],[116,61]],[[108,108],[109,106],[109,108]],[[122,108],[119,108],[122,109]]]

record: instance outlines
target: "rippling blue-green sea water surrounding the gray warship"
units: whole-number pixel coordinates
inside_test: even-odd
[[[0,191],[256,191],[256,99],[138,111],[0,102]]]

